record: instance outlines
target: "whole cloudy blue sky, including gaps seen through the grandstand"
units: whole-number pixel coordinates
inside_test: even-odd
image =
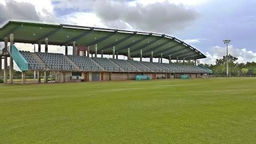
[[[0,23],[25,20],[166,34],[203,52],[207,58],[201,63],[226,55],[223,39],[228,38],[229,53],[247,62],[256,61],[255,6],[256,0],[0,0]],[[49,51],[65,49],[50,46]]]

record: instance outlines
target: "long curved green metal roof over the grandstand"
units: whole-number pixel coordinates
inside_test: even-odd
[[[163,58],[189,60],[206,58],[203,53],[194,47],[180,41],[179,39],[167,35],[144,33],[137,31],[84,27],[74,25],[50,25],[45,23],[9,21],[0,28],[0,41],[4,37],[14,34],[14,42],[37,44],[44,38],[49,39],[49,45],[73,45],[76,41],[78,45],[90,46],[90,53],[94,53],[94,44],[98,45],[98,52],[112,54],[112,47],[119,55],[127,55],[130,48],[131,57],[150,57],[151,51],[154,58],[159,58],[163,53]]]

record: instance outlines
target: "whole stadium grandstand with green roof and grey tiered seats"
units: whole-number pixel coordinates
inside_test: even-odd
[[[45,83],[47,71],[54,73],[55,82],[73,81],[77,74],[79,81],[115,81],[135,79],[138,75],[151,79],[180,78],[181,75],[197,78],[211,73],[210,69],[196,65],[197,59],[206,58],[203,53],[175,37],[161,34],[9,21],[0,29],[0,39],[5,44],[0,51],[4,59],[4,83],[13,83],[13,61],[22,71],[22,83],[26,82],[25,71],[37,71],[37,82],[40,75],[44,75]],[[38,51],[20,51],[15,43],[38,44]],[[48,45],[65,46],[65,54],[49,53]],[[68,55],[68,46],[73,47],[72,55]],[[104,58],[106,54],[112,58]],[[118,59],[118,55],[125,55],[127,60]],[[7,57],[10,57],[9,77]],[[153,58],[159,62],[153,62]],[[163,58],[169,63],[163,63]],[[195,61],[194,65],[191,60]],[[0,64],[2,66],[2,60]]]

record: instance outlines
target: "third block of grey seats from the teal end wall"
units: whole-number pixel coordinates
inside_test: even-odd
[[[81,70],[103,71],[103,69],[91,58],[78,55],[68,55],[68,58],[75,62],[75,64],[79,66]]]

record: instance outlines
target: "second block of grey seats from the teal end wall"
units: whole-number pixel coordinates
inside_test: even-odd
[[[37,52],[37,55],[52,70],[76,70],[75,66],[69,63],[63,54]]]

